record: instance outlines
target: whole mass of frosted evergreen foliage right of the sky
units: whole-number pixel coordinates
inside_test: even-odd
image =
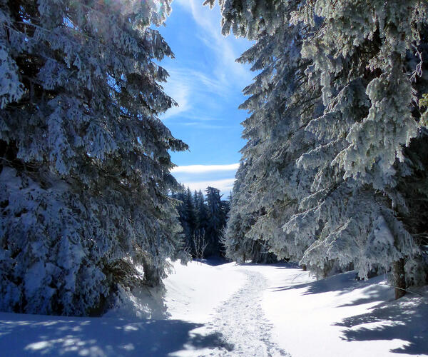
[[[239,61],[259,71],[244,90],[228,254],[263,240],[320,275],[425,283],[427,2],[218,2],[223,34],[256,41]]]

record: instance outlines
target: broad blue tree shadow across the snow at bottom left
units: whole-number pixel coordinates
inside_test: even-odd
[[[203,326],[180,320],[61,318],[1,313],[4,356],[170,356],[182,350],[224,348],[220,333],[191,332]]]

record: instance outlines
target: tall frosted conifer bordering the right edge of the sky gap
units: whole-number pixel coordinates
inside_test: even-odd
[[[255,243],[263,246],[266,256],[271,251],[279,258],[295,260],[302,258],[308,246],[306,241],[299,241],[300,236],[285,233],[282,226],[310,189],[313,173],[298,169],[295,161],[307,147],[313,146],[313,139],[304,128],[317,110],[319,94],[316,88],[308,91],[303,79],[307,66],[300,56],[304,29],[290,26],[286,16],[279,16],[283,21],[270,29],[271,33],[260,29],[247,34],[256,43],[238,59],[253,64],[252,70],[259,73],[254,83],[245,88],[249,98],[240,106],[250,112],[243,122],[243,137],[248,143],[241,151],[243,165],[236,176],[236,199],[226,238],[236,243],[249,240],[239,246],[250,248],[253,253],[247,251],[246,256],[256,261],[260,258],[254,254],[260,249],[253,249]],[[238,216],[246,223],[233,223],[238,223]],[[243,235],[242,231],[234,233],[233,226],[238,231],[242,227],[248,229]]]

